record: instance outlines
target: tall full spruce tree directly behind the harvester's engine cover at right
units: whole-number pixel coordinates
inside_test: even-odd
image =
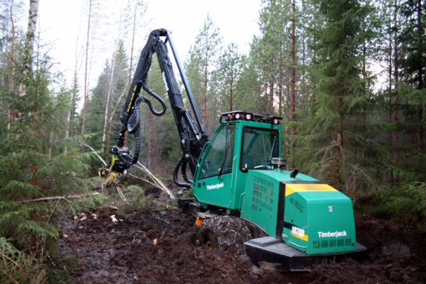
[[[368,170],[361,170],[368,164],[368,126],[361,122],[361,109],[371,96],[363,88],[361,46],[371,33],[361,24],[371,7],[356,0],[314,4],[319,4],[325,24],[312,31],[319,61],[310,72],[319,84],[299,158],[302,167],[320,173],[327,182],[355,190],[368,178]]]

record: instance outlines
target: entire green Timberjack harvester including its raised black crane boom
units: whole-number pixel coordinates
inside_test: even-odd
[[[183,102],[167,43],[192,111]],[[287,271],[304,271],[311,263],[358,257],[366,252],[356,242],[351,200],[309,175],[285,170],[285,160],[280,158],[280,117],[226,112],[208,138],[171,33],[165,29],[152,31],[142,50],[120,116],[122,125],[112,160],[102,168],[107,180],[124,178],[129,167],[137,163],[141,147],[139,104],[146,103],[156,116],[166,111],[164,100],[147,85],[154,53],[181,138],[182,155],[174,169],[174,182],[183,189],[193,189],[194,202],[201,211],[220,209],[237,215],[268,235],[245,242],[245,253],[252,261],[282,263]],[[142,89],[161,104],[161,109],[144,97]],[[133,155],[124,147],[126,131],[135,137]]]

